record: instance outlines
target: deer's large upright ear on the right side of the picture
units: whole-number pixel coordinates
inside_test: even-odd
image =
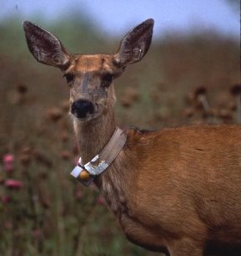
[[[143,59],[152,42],[153,25],[153,19],[149,18],[128,32],[113,55],[113,62],[118,66],[126,66]]]

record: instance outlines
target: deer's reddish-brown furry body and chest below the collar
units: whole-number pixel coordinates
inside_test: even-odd
[[[127,133],[127,145],[96,181],[127,237],[171,255],[203,255],[217,243],[238,255],[240,127]]]

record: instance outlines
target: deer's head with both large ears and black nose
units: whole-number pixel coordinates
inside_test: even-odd
[[[58,67],[70,88],[71,113],[78,120],[93,120],[113,108],[113,79],[128,64],[143,59],[153,34],[153,19],[133,28],[114,54],[71,54],[52,33],[24,22],[28,49],[38,62]]]

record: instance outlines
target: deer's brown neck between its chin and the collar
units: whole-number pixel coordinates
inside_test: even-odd
[[[81,122],[74,119],[73,126],[78,140],[80,156],[83,163],[87,163],[103,150],[103,147],[113,136],[115,130],[113,110],[108,110],[107,113],[94,120]]]

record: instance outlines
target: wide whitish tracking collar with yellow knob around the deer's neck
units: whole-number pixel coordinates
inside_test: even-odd
[[[113,136],[108,141],[107,146],[103,148],[103,151],[97,156],[94,156],[91,161],[84,165],[80,157],[78,166],[75,166],[70,174],[88,187],[89,184],[93,182],[94,178],[103,173],[115,160],[119,152],[123,149],[126,141],[126,133],[122,129],[116,127]]]

